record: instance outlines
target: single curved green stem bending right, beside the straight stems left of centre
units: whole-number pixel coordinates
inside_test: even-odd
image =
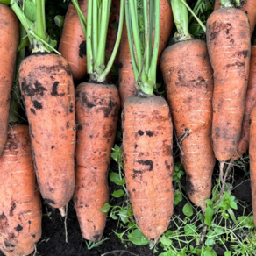
[[[117,40],[116,40],[116,43],[115,43],[115,46],[114,46],[114,49],[113,49],[113,53],[110,57],[110,60],[107,64],[105,70],[103,71],[103,74],[100,75],[100,77],[98,79],[99,82],[105,81],[106,76],[109,74],[110,69],[113,66],[114,60],[115,60],[116,55],[117,55],[118,47],[119,47],[119,44],[120,44],[120,41],[121,41],[121,37],[122,37],[123,26],[124,26],[124,0],[121,0]]]

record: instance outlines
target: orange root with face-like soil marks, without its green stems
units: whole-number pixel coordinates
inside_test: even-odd
[[[125,180],[140,231],[158,240],[173,214],[173,126],[160,96],[131,96],[122,112]]]

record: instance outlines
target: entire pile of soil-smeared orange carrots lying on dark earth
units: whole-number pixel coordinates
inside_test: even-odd
[[[154,44],[149,44],[149,52],[156,57],[155,72],[163,75],[167,101],[147,95],[139,87],[142,70],[140,75],[132,73],[136,72],[132,64],[140,60],[131,52],[127,19],[121,26],[122,36],[110,25],[115,21],[123,25],[124,0],[109,1],[108,34],[103,39],[108,47],[100,68],[90,63],[97,51],[92,46],[94,53],[88,53],[87,44],[91,42],[86,36],[89,19],[95,22],[89,12],[95,14],[95,5],[91,0],[72,0],[59,43],[62,56],[53,54],[43,24],[45,31],[29,38],[32,54],[16,71],[18,19],[24,26],[32,21],[19,16],[17,1],[11,0],[8,6],[10,1],[0,0],[0,194],[4,195],[0,196],[0,250],[5,255],[28,255],[34,250],[41,235],[39,192],[46,203],[60,209],[63,217],[74,198],[82,237],[101,240],[106,214],[100,209],[109,202],[110,152],[121,108],[127,188],[136,222],[147,238],[157,241],[173,213],[173,125],[187,174],[189,199],[202,208],[203,214],[205,200],[211,195],[216,159],[224,185],[233,161],[242,158],[249,147],[255,194],[256,46],[251,46],[255,0],[232,7],[222,6],[217,0],[207,21],[206,42],[188,33],[185,0],[155,1],[160,1],[160,31],[153,30],[152,37],[159,46],[154,54]],[[185,22],[179,20],[181,15]],[[167,47],[174,21],[178,32],[175,42]],[[95,36],[93,30],[91,34]],[[155,35],[159,34],[157,40]],[[40,46],[42,40],[46,40],[46,46]],[[109,60],[119,67],[118,89],[108,82],[109,72],[102,75],[98,71],[108,68]],[[28,126],[8,121],[16,73]],[[88,74],[89,81],[82,82]],[[139,77],[137,81],[135,77]],[[74,82],[82,83],[75,89]]]

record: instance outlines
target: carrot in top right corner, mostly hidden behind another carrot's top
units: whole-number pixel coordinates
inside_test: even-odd
[[[220,0],[215,1],[214,11],[220,9]],[[251,26],[251,37],[256,25],[256,1],[255,0],[247,0],[247,2],[242,6],[241,10],[245,11],[250,20]]]

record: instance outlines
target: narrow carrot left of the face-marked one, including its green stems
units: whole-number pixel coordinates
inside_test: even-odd
[[[88,2],[86,38],[90,79],[75,90],[78,127],[75,150],[75,210],[82,237],[94,242],[101,240],[106,224],[106,214],[100,209],[104,203],[109,202],[108,169],[120,109],[117,88],[105,81],[121,39],[124,0],[120,3],[117,40],[105,67],[110,4],[110,0],[101,4],[93,0]]]

